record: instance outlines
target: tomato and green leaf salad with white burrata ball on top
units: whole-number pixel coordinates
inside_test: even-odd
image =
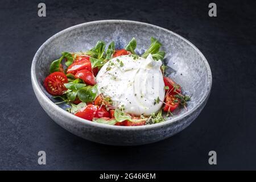
[[[68,104],[69,113],[88,121],[115,126],[164,122],[178,107],[187,109],[190,97],[164,76],[167,66],[162,63],[165,52],[160,51],[161,46],[151,38],[149,48],[138,55],[133,38],[123,49],[115,49],[114,42],[106,48],[98,41],[89,51],[63,52],[52,61],[44,87]],[[152,83],[151,78],[156,79],[154,76],[158,77],[158,84],[154,84],[158,88],[152,89],[158,92],[151,92],[152,86],[147,85]],[[139,86],[134,86],[138,77]],[[142,92],[143,88],[146,91]]]

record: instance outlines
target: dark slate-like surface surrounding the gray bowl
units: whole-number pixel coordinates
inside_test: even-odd
[[[38,17],[44,2],[47,16]],[[0,169],[256,169],[255,30],[253,1],[1,1]],[[212,93],[187,129],[138,147],[105,146],[76,137],[36,100],[30,66],[52,35],[79,23],[129,19],[188,39],[207,58]],[[47,164],[38,164],[38,151]],[[208,152],[217,152],[217,165]]]

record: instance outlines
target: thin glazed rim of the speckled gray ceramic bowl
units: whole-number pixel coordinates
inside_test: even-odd
[[[83,27],[83,26],[92,26],[92,25],[96,25],[96,24],[105,24],[105,23],[125,23],[125,24],[139,24],[139,25],[143,25],[143,26],[150,26],[150,27],[153,27],[153,28],[158,28],[160,30],[166,31],[166,32],[168,32],[170,34],[173,34],[173,35],[177,36],[178,38],[182,39],[184,42],[188,43],[189,46],[191,46],[193,49],[195,49],[195,51],[197,53],[199,53],[199,56],[201,56],[203,58],[203,61],[204,61],[205,67],[207,68],[207,73],[208,73],[207,87],[209,87],[209,89],[207,90],[207,92],[204,93],[203,97],[200,98],[200,100],[196,103],[195,107],[193,107],[191,110],[188,110],[185,113],[180,114],[175,118],[169,119],[169,120],[161,122],[161,123],[155,123],[153,125],[144,125],[144,126],[135,126],[135,127],[105,125],[105,124],[102,124],[102,123],[96,123],[96,122],[92,122],[92,121],[88,121],[86,119],[76,117],[75,115],[73,115],[71,113],[68,113],[64,109],[61,109],[61,107],[54,104],[46,96],[46,94],[44,94],[43,90],[39,86],[38,80],[36,80],[35,68],[36,68],[36,61],[38,60],[38,57],[41,55],[44,47],[46,47],[49,43],[52,42],[52,40],[58,38],[59,36],[61,36],[65,32],[68,32],[68,31],[71,31],[71,30],[74,30],[76,28]],[[110,20],[97,20],[97,21],[93,21],[93,22],[86,22],[86,23],[77,24],[75,26],[66,28],[66,29],[64,29],[60,32],[57,32],[57,34],[55,34],[55,35],[51,36],[51,38],[47,39],[46,42],[44,42],[42,44],[42,46],[39,47],[38,51],[36,51],[35,56],[32,60],[32,64],[31,64],[31,82],[32,82],[34,92],[35,92],[37,97],[42,98],[42,100],[44,102],[46,102],[46,104],[52,110],[56,110],[58,113],[63,115],[63,117],[71,118],[72,121],[76,121],[76,122],[79,122],[79,123],[82,123],[82,124],[85,124],[85,125],[89,125],[89,126],[93,126],[93,127],[100,127],[101,129],[110,129],[110,130],[119,130],[119,131],[121,131],[121,130],[151,130],[151,129],[156,129],[156,128],[159,128],[159,127],[164,127],[164,126],[172,125],[176,122],[179,122],[182,118],[188,117],[193,112],[195,112],[202,104],[204,104],[205,100],[208,99],[209,94],[210,94],[210,90],[212,88],[212,72],[210,70],[209,63],[208,63],[207,59],[205,58],[205,56],[203,55],[203,53],[201,53],[201,51],[199,51],[199,49],[196,48],[196,46],[194,46],[191,42],[189,42],[187,39],[183,38],[182,36],[176,34],[175,32],[172,32],[170,30],[167,30],[166,28],[162,28],[162,27],[150,24],[150,23],[137,22],[137,21],[133,21],[133,20],[110,19]]]

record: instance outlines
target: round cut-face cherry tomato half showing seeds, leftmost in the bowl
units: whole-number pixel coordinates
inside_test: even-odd
[[[64,84],[68,82],[67,76],[62,72],[54,72],[44,80],[44,87],[52,96],[61,96],[67,88]]]

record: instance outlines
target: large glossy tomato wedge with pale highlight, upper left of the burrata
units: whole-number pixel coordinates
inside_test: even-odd
[[[90,63],[90,60],[82,59],[79,61],[75,61],[68,67],[67,73],[72,73],[73,75],[75,75],[78,71],[82,69],[87,69],[89,72],[92,72],[92,64]]]

